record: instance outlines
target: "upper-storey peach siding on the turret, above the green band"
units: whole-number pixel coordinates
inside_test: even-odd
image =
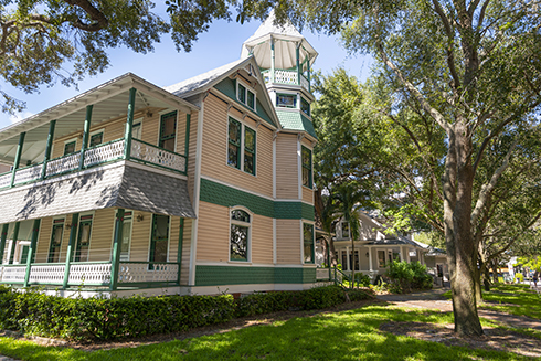
[[[276,197],[298,199],[296,135],[278,134],[276,138]]]

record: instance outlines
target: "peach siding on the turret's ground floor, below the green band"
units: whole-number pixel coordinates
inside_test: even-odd
[[[300,263],[299,220],[276,220],[276,262],[278,264]]]

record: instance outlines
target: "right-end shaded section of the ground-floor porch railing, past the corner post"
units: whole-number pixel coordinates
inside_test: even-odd
[[[152,264],[149,269],[148,263],[120,263],[118,269],[119,284],[135,284],[148,282],[177,282],[179,277],[178,264]]]

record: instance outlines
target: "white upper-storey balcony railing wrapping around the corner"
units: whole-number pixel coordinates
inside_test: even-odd
[[[85,149],[82,168],[87,169],[124,159],[125,144],[125,139],[120,138]],[[131,140],[131,156],[129,159],[146,164],[166,168],[182,174],[185,174],[187,170],[185,156],[159,148],[138,139]],[[77,171],[81,168],[79,164],[81,151],[51,159],[47,161],[45,167],[45,178]],[[18,169],[15,171],[13,185],[42,180],[42,170],[43,163]],[[10,187],[11,178],[11,171],[0,174],[0,189]]]

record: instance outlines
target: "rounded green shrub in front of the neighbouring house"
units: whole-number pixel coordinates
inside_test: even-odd
[[[426,272],[426,266],[418,262],[393,261],[388,264],[385,276],[389,277],[389,289],[395,294],[409,293],[412,289],[432,288],[432,276]]]

